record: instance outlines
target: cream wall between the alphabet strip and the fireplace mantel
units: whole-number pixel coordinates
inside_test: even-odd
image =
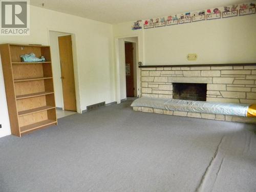
[[[114,25],[114,35],[143,39],[143,65],[256,62],[256,14],[135,31],[132,25]],[[198,60],[188,61],[188,53]]]

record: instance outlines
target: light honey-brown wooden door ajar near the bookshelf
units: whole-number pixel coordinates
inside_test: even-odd
[[[75,77],[71,35],[58,37],[64,109],[76,111]]]

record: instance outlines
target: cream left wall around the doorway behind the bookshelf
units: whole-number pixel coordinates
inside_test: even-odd
[[[1,36],[0,44],[11,42],[49,45],[49,30],[75,34],[73,43],[76,49],[73,51],[76,51],[77,58],[74,62],[78,67],[77,89],[81,98],[78,108],[86,110],[86,106],[90,104],[115,101],[113,26],[44,8],[31,6],[30,9],[30,35]],[[2,65],[0,68],[2,69]],[[2,76],[0,83],[3,84]],[[2,93],[4,94],[3,90]],[[5,99],[0,100],[0,106],[4,106],[1,113],[7,113]],[[6,122],[6,117],[0,124]],[[4,129],[10,129],[7,123]]]

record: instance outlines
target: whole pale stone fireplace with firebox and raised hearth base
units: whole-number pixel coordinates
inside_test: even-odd
[[[139,66],[141,96],[226,103],[256,103],[256,63],[216,65]],[[135,111],[253,122],[256,118],[166,111],[134,107]]]

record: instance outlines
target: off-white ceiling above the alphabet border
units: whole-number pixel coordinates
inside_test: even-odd
[[[248,0],[31,0],[31,5],[109,24],[167,16],[248,2]]]

